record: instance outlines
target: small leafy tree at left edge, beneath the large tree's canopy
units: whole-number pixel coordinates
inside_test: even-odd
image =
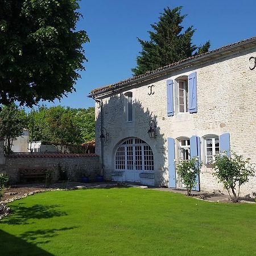
[[[26,124],[26,113],[15,104],[3,106],[0,111],[0,136],[5,138],[5,152],[10,154],[13,141],[22,135]]]

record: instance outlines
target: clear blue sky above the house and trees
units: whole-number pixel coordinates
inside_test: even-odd
[[[196,28],[196,45],[210,40],[210,49],[214,49],[256,36],[255,0],[81,0],[84,18],[77,28],[85,30],[90,38],[84,46],[86,71],[77,81],[76,92],[55,105],[94,106],[94,101],[86,97],[90,90],[131,77],[141,51],[137,37],[148,40],[150,24],[158,22],[159,13],[167,6],[183,6],[182,13],[188,15],[183,26]]]

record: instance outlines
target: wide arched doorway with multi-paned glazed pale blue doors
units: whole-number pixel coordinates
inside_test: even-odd
[[[115,170],[125,172],[126,181],[141,182],[143,172],[154,173],[151,147],[142,139],[126,139],[115,152]]]

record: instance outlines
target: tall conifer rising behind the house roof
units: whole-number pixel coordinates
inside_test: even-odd
[[[209,50],[209,41],[199,47],[192,44],[195,29],[190,26],[184,30],[181,23],[186,15],[181,15],[181,8],[180,6],[164,9],[159,22],[151,24],[154,31],[148,31],[150,40],[144,41],[138,38],[142,51],[137,57],[137,67],[131,69],[133,75],[142,75],[147,71]]]

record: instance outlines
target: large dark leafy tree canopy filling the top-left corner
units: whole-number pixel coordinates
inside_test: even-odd
[[[79,0],[0,1],[0,104],[32,106],[75,90],[86,60]]]

